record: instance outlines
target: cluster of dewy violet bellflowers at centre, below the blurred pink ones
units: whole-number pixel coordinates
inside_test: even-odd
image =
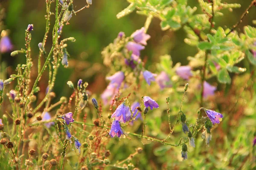
[[[158,108],[159,105],[156,101],[151,99],[149,96],[143,97],[144,102],[144,114],[148,112],[148,107],[153,110],[153,108]],[[117,108],[116,111],[112,114],[111,118],[114,119],[111,125],[111,129],[109,132],[109,135],[113,138],[114,136],[120,137],[124,135],[124,131],[122,130],[120,123],[125,123],[126,120],[130,120],[130,122],[133,121],[133,119],[139,119],[141,118],[141,113],[139,112],[138,108],[140,107],[140,103],[134,102],[134,104],[131,106],[131,110],[133,111],[133,114],[131,114],[130,108],[125,106],[125,102],[121,103]],[[134,118],[134,116],[136,116]],[[141,118],[142,119],[142,118]]]

